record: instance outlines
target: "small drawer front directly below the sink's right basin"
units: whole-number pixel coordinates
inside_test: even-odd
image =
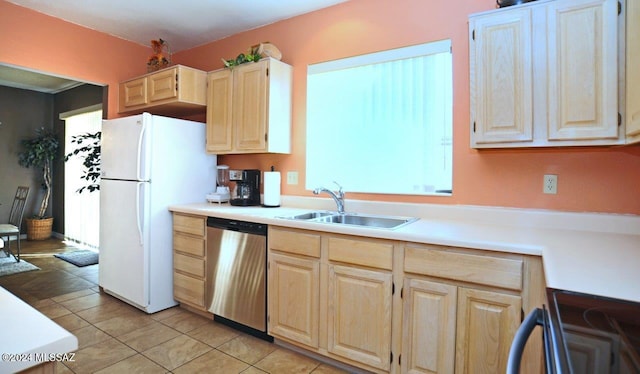
[[[391,270],[393,244],[329,237],[329,260]]]

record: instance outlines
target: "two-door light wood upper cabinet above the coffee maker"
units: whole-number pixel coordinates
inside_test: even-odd
[[[265,58],[207,78],[207,152],[291,153],[291,66]]]

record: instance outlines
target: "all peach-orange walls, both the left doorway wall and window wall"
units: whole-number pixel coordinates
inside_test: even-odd
[[[224,156],[235,168],[271,165],[297,170],[300,184],[283,193],[310,195],[305,176],[306,66],[367,52],[450,38],[454,56],[454,193],[451,197],[364,195],[348,198],[640,214],[640,147],[534,150],[469,148],[467,16],[493,0],[350,0],[176,53],[174,62],[203,70],[222,67],[250,45],[270,41],[294,67],[293,153]],[[116,84],[145,73],[150,49],[0,0],[0,62],[113,87],[109,117],[117,116]],[[203,120],[204,116],[199,118]],[[542,176],[559,175],[557,195],[542,194]]]

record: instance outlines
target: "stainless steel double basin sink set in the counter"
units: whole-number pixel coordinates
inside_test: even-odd
[[[412,217],[379,216],[357,213],[338,213],[332,211],[312,211],[294,216],[280,217],[296,221],[329,223],[337,225],[354,225],[382,229],[397,229],[417,221]]]

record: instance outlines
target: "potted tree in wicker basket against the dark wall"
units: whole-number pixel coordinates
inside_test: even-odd
[[[28,240],[44,240],[51,237],[53,217],[47,217],[47,207],[51,198],[51,164],[58,151],[58,138],[51,130],[44,127],[36,130],[36,136],[21,141],[22,152],[18,154],[18,162],[26,168],[41,168],[44,178],[44,196],[38,214],[25,219]]]

